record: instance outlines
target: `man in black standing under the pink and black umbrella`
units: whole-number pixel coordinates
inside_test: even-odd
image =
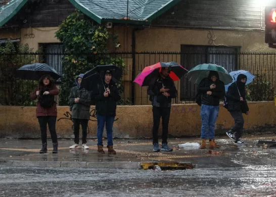
[[[168,68],[161,69],[160,77],[148,87],[148,94],[152,102],[153,112],[153,151],[159,152],[158,129],[162,117],[162,146],[161,151],[172,151],[168,146],[168,127],[170,119],[171,98],[176,98],[177,90],[173,80],[169,77]]]

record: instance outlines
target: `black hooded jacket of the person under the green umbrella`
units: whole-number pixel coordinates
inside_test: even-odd
[[[211,76],[216,76],[217,80],[212,81]],[[215,84],[216,88],[211,89],[210,85]],[[212,91],[211,95],[207,94],[207,91]],[[210,71],[208,78],[202,79],[199,84],[198,93],[202,94],[202,104],[208,106],[218,106],[219,100],[225,95],[224,83],[219,80],[218,73],[216,71]]]

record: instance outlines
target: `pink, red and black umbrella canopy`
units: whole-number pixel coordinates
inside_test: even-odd
[[[188,72],[188,70],[176,62],[159,62],[144,68],[144,70],[137,75],[134,82],[140,86],[148,86],[153,84],[160,76],[162,67],[168,67],[170,71],[169,76],[173,81],[181,79],[181,77]]]

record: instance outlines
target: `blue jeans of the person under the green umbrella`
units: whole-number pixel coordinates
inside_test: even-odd
[[[215,138],[215,123],[218,117],[219,106],[201,105],[201,138]]]

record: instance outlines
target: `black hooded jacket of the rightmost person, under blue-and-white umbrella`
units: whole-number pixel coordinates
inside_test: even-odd
[[[227,99],[227,110],[229,112],[242,112],[246,113],[249,111],[247,102],[244,98],[244,101],[240,101],[240,94],[236,82],[232,83],[227,90],[226,99]]]

